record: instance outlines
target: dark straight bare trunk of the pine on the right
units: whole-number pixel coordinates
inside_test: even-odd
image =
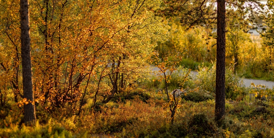
[[[226,72],[226,7],[225,0],[217,0],[217,57],[216,57],[216,102],[215,120],[225,117],[225,72]]]

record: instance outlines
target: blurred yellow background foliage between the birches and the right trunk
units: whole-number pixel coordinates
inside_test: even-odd
[[[185,65],[186,61],[194,62],[206,62],[215,60],[216,46],[210,47],[215,43],[215,40],[211,40],[208,44],[202,38],[205,34],[205,30],[201,27],[195,29],[186,30],[185,26],[181,26],[178,17],[166,18],[164,20],[163,32],[169,34],[168,40],[164,43],[158,43],[155,48],[159,52],[161,58],[165,57],[172,52],[183,52],[183,60],[180,65]],[[189,65],[191,69],[197,69],[196,67]],[[185,66],[185,67],[188,67]]]

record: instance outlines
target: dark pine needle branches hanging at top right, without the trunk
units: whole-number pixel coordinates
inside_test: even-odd
[[[212,38],[217,38],[217,1],[216,0],[165,0],[160,13],[166,16],[178,16],[182,25],[187,29],[196,26],[202,26],[206,29],[203,36],[207,42]],[[245,32],[248,32],[252,25],[258,23],[265,15],[265,5],[259,1],[235,1],[229,0],[225,3],[226,25],[227,27],[240,26]],[[239,16],[240,15],[240,16]],[[234,22],[234,20],[238,22]]]

